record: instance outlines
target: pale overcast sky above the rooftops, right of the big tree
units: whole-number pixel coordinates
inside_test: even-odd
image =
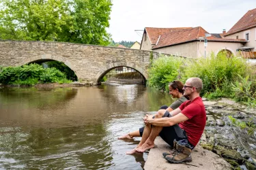
[[[114,41],[139,41],[145,27],[203,27],[208,33],[229,31],[256,0],[112,0],[110,27]]]

